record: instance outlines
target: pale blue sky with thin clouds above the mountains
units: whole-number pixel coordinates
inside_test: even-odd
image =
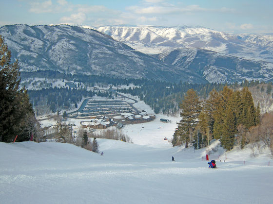
[[[273,33],[273,0],[1,0],[9,24],[199,25],[229,33]]]

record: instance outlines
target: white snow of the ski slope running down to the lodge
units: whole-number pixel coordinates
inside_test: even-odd
[[[153,113],[143,102],[135,106]],[[198,151],[172,147],[179,119],[126,125],[134,144],[98,139],[103,156],[72,144],[0,143],[0,204],[273,203],[268,150],[254,157],[250,149],[225,153],[218,141]],[[213,148],[218,168],[208,169],[202,158]]]

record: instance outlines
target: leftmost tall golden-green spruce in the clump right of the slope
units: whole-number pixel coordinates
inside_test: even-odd
[[[182,119],[177,123],[178,129],[175,132],[174,139],[178,142],[176,144],[173,143],[174,145],[185,143],[185,147],[188,147],[195,126],[198,123],[198,117],[201,112],[200,103],[195,90],[189,89],[180,104],[180,116]]]

